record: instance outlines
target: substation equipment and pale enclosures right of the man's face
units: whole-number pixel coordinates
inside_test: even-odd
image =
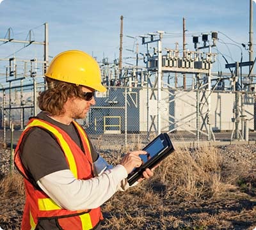
[[[162,49],[163,31],[141,36],[147,47],[145,67],[118,67],[108,59],[102,61],[102,81],[109,87],[105,94],[98,94],[97,105],[92,107],[87,124],[88,132],[97,134],[188,132],[196,141],[215,141],[214,132],[232,131],[232,139],[248,139],[249,127],[253,130],[254,93],[244,93],[242,84],[237,88],[239,69],[222,76],[212,73],[217,54],[218,33],[202,34],[202,47],[197,47],[198,37],[193,36],[195,51]],[[150,43],[157,43],[153,49]],[[205,51],[206,50],[206,51]],[[163,52],[166,52],[163,54]],[[252,62],[238,63],[252,66]],[[226,68],[236,67],[227,64]],[[192,75],[191,88],[177,88],[170,73]],[[245,77],[246,78],[246,77]],[[175,79],[177,81],[177,79]],[[225,82],[232,88],[225,90]],[[231,94],[230,94],[231,93]],[[212,100],[213,105],[212,107]],[[189,109],[191,107],[191,109]],[[181,112],[180,112],[181,111]],[[246,118],[247,116],[247,118]],[[249,118],[250,117],[250,118]]]

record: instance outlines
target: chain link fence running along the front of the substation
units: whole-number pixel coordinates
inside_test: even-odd
[[[1,91],[5,142],[10,142],[11,123],[19,138],[28,118],[39,112],[36,96],[42,90],[43,83]],[[159,132],[189,144],[256,141],[254,93],[162,88],[160,100],[157,93],[152,87],[109,86],[106,93],[96,93],[96,105],[78,122],[98,145],[104,140],[108,148],[144,144]]]

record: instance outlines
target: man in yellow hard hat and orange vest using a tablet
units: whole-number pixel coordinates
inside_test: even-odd
[[[132,151],[111,167],[76,123],[95,105],[95,91],[106,91],[91,56],[62,52],[45,78],[48,89],[38,96],[42,112],[29,119],[15,150],[15,165],[26,179],[22,230],[100,229],[100,205],[129,188],[127,174],[147,153]],[[143,173],[152,175],[150,169]]]

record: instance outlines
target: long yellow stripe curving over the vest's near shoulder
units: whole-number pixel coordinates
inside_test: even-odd
[[[70,171],[74,174],[74,177],[77,179],[78,178],[77,177],[77,168],[76,168],[76,162],[75,162],[74,156],[73,156],[72,151],[70,150],[67,142],[64,140],[64,138],[60,134],[60,132],[58,132],[58,130],[56,130],[56,128],[52,127],[51,125],[48,125],[44,121],[40,121],[38,119],[34,119],[33,121],[31,121],[31,123],[28,124],[28,126],[25,128],[25,130],[27,128],[35,127],[35,126],[46,128],[47,130],[52,132],[52,134],[54,134],[59,139],[61,146],[63,148],[63,151],[65,152],[65,156],[67,157]]]

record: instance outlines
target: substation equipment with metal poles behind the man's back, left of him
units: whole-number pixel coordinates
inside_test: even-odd
[[[5,67],[5,82],[1,85],[3,93],[1,105],[1,127],[3,127],[4,143],[6,143],[6,128],[13,127],[23,130],[28,118],[35,116],[38,112],[37,96],[38,91],[44,91],[44,73],[49,65],[49,29],[48,23],[44,24],[44,42],[37,42],[32,39],[32,31],[29,31],[28,40],[15,40],[11,36],[11,29],[8,29],[7,38],[0,39],[3,43],[22,43],[24,48],[29,45],[44,46],[44,60],[19,59],[15,56],[0,58],[0,61],[7,61]]]

